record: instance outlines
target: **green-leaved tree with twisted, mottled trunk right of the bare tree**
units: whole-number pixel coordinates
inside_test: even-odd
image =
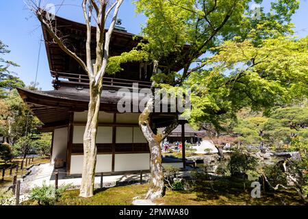
[[[231,108],[227,104],[220,105],[219,102],[211,105],[211,102],[216,99],[216,94],[217,96],[220,94],[220,90],[215,85],[212,89],[214,90],[212,99],[198,97],[207,94],[211,89],[206,87],[207,78],[198,76],[198,73],[207,73],[203,71],[203,67],[208,64],[205,53],[211,53],[211,48],[235,36],[238,36],[241,42],[250,38],[255,44],[259,44],[261,39],[292,32],[290,17],[298,8],[298,1],[272,3],[272,10],[277,12],[277,16],[266,14],[260,9],[259,20],[255,19],[255,11],[249,9],[251,2],[251,0],[138,0],[135,2],[137,12],[143,13],[148,18],[142,30],[146,39],[142,49],[149,52],[149,60],[152,60],[154,66],[157,61],[164,65],[159,73],[155,73],[154,68],[153,81],[167,88],[194,88],[198,85],[199,89],[192,96],[196,97],[194,99],[196,110],[192,110],[191,123],[207,120],[214,123],[218,115],[226,114]],[[269,26],[268,23],[272,25]],[[252,29],[255,31],[251,31]],[[187,46],[189,49],[185,50]],[[181,66],[181,72],[170,71],[174,66]],[[194,83],[187,83],[190,78]],[[209,81],[214,83],[216,80],[214,77],[209,77]],[[221,95],[226,96],[227,93]],[[157,135],[155,127],[151,127],[151,107],[153,107],[153,101],[150,99],[140,115],[139,124],[151,150],[151,186],[146,198],[155,199],[162,196],[164,188],[159,147],[164,136]],[[176,122],[177,119],[166,127],[166,133],[175,127]]]

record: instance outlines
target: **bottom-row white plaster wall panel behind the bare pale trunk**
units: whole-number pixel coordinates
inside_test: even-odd
[[[84,155],[72,155],[70,161],[70,174],[81,174],[84,164]],[[95,172],[111,172],[112,155],[97,155]]]

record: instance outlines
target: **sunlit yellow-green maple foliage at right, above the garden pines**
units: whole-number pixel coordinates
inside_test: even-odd
[[[308,38],[271,38],[258,46],[227,41],[216,52],[207,68],[191,73],[185,83],[192,89],[191,123],[216,124],[244,107],[261,111],[307,97]],[[252,132],[257,123],[264,125],[261,119],[240,131]]]

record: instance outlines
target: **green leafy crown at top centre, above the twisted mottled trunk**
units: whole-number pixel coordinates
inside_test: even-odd
[[[253,1],[135,1],[137,12],[142,12],[148,18],[142,31],[146,42],[151,45],[151,56],[159,60],[170,53],[177,53],[179,56],[183,55],[180,58],[182,62],[185,58],[190,62],[197,59],[210,47],[220,44],[220,38],[227,40],[241,36],[245,39],[249,35],[257,41],[292,32],[290,16],[298,8],[298,1],[279,1],[279,5],[272,5],[272,13],[266,14],[261,10],[260,19],[255,19],[255,12],[249,9],[251,2]],[[184,44],[189,44],[191,50],[181,54]]]

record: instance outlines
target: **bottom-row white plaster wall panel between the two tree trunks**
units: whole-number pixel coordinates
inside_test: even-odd
[[[115,155],[114,171],[149,170],[150,154],[120,154]]]

